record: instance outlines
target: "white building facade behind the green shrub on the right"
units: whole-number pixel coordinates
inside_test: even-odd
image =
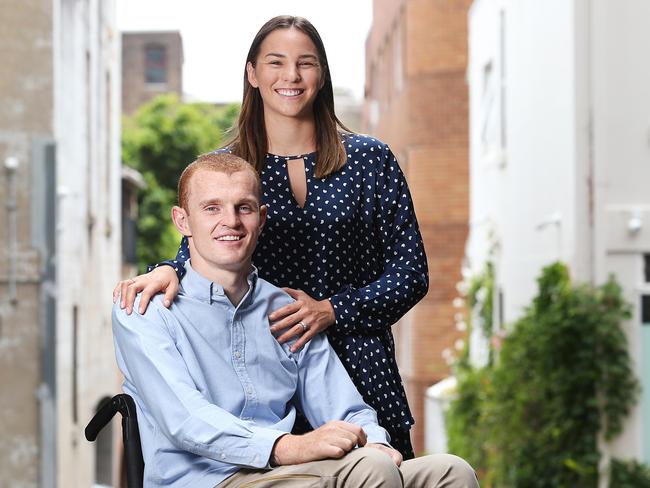
[[[476,0],[469,15],[467,258],[495,264],[495,318],[519,318],[557,260],[579,282],[614,274],[633,305],[643,393],[603,473],[609,456],[650,462],[649,20],[643,0]]]

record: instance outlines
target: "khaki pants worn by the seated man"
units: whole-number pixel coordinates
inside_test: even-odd
[[[478,488],[474,470],[457,456],[433,454],[404,461],[398,468],[388,454],[371,447],[341,459],[243,469],[218,488]]]

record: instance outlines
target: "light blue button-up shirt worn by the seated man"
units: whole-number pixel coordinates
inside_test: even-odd
[[[145,486],[213,487],[243,467],[268,468],[296,407],[315,427],[345,420],[361,426],[368,442],[389,442],[324,335],[292,353],[271,334],[268,315],[291,297],[253,270],[233,306],[221,286],[189,262],[186,268],[169,309],[162,295],[144,315],[113,307],[117,363],[138,409]]]

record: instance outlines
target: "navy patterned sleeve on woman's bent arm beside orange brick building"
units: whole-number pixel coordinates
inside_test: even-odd
[[[347,285],[330,298],[336,323],[346,324],[348,332],[390,327],[429,289],[427,257],[406,179],[388,146],[380,160],[373,175],[373,221],[383,272],[365,286]]]

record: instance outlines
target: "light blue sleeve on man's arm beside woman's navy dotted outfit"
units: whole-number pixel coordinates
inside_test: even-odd
[[[296,399],[314,428],[344,420],[363,428],[369,443],[389,444],[377,413],[363,401],[324,334],[314,336],[298,354]]]

